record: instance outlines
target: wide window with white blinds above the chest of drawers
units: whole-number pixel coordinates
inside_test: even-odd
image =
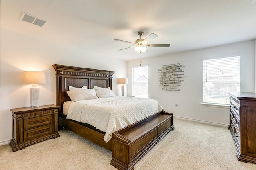
[[[240,56],[203,60],[203,102],[229,104],[228,92],[240,92]]]

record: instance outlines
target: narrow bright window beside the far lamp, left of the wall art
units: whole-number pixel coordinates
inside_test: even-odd
[[[148,98],[148,66],[132,68],[132,96]]]

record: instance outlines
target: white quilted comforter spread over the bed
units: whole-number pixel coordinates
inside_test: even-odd
[[[72,102],[67,118],[106,132],[104,141],[108,142],[113,132],[161,110],[162,106],[154,99],[114,96]]]

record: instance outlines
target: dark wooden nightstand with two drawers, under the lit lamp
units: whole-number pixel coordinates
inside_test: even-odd
[[[36,108],[23,107],[12,111],[12,151],[28,145],[60,137],[58,133],[58,111],[60,106],[45,105]]]

